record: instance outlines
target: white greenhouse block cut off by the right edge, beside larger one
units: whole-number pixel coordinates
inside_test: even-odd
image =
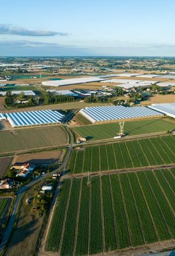
[[[175,102],[174,103],[162,103],[162,104],[152,104],[148,106],[150,109],[159,111],[160,113],[166,114],[169,117],[175,118]]]

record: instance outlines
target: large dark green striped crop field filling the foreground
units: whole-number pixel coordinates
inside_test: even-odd
[[[63,181],[45,250],[89,255],[175,238],[174,169]]]

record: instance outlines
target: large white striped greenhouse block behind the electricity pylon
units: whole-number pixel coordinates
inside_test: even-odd
[[[113,121],[117,119],[163,116],[163,114],[144,106],[134,108],[125,106],[99,106],[81,109],[79,113],[92,123]]]

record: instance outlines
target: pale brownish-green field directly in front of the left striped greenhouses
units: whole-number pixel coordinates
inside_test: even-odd
[[[67,144],[67,136],[60,126],[39,127],[25,130],[1,131],[0,154],[35,150]]]

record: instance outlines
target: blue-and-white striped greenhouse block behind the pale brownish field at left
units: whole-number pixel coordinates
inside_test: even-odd
[[[6,114],[7,120],[14,128],[61,123],[65,115],[53,110],[37,110]]]

